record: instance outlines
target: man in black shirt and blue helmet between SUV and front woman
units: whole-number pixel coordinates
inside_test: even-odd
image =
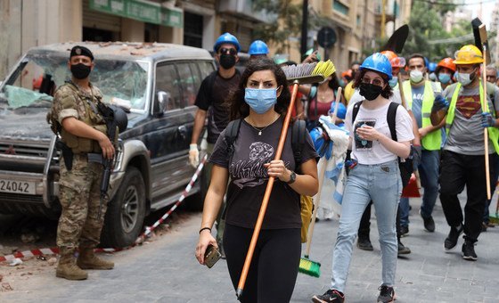
[[[241,74],[236,70],[235,63],[239,61],[237,53],[240,49],[241,46],[239,45],[237,38],[229,33],[225,33],[218,37],[213,46],[219,68],[202,81],[200,91],[196,97],[196,102],[194,103],[198,107],[198,111],[196,111],[196,116],[194,117],[194,128],[192,130],[192,140],[189,149],[189,161],[194,168],[196,168],[200,162],[198,141],[207,114],[208,154],[213,151],[218,136],[229,123],[230,106],[225,102],[225,99],[229,93],[235,90],[239,85]],[[202,177],[207,181],[209,181],[209,177],[211,176],[211,166],[211,164],[206,163],[206,167],[203,171]],[[208,185],[209,182],[205,182],[204,184]],[[206,190],[203,192],[206,192]],[[220,213],[222,213],[222,211],[220,211]],[[221,248],[224,226],[223,223],[220,224],[219,217],[221,217],[220,214],[217,218],[217,242],[218,247]]]

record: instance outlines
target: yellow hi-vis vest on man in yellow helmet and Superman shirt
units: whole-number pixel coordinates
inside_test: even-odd
[[[488,102],[487,98],[484,94],[483,86],[482,86],[482,81],[480,80],[479,82],[479,94],[480,94],[480,104],[483,112],[489,112],[488,108]],[[494,86],[488,86],[487,83],[487,92],[488,89],[492,88],[492,92],[494,92]],[[449,130],[452,127],[452,123],[454,121],[454,116],[455,116],[455,104],[457,103],[457,97],[459,96],[460,90],[461,90],[461,83],[454,83],[451,85],[449,88],[449,93],[452,92],[452,99],[451,103],[449,105],[449,110],[447,111],[447,117],[446,117],[446,135],[449,135]],[[453,91],[454,89],[454,91]],[[489,95],[490,99],[492,101],[492,104],[494,104],[494,97],[493,95]],[[492,116],[495,118],[495,111],[494,109],[490,111]],[[488,137],[494,143],[494,149],[495,152],[499,153],[499,129],[496,127],[487,127],[488,129]]]

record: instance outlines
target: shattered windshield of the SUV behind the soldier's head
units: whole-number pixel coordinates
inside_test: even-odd
[[[148,71],[146,61],[95,60],[90,82],[101,90],[103,102],[143,111]],[[6,102],[11,109],[50,107],[54,90],[69,79],[67,57],[30,53],[5,81],[0,102]]]

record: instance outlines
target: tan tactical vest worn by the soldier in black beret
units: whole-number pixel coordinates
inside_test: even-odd
[[[80,117],[80,121],[86,123],[90,127],[94,127],[98,131],[106,134],[107,128],[101,113],[97,109],[97,102],[101,102],[102,95],[93,95],[94,100],[90,100],[85,94],[79,91],[77,86],[71,83],[66,83],[63,86],[69,86],[77,97],[75,98],[77,106],[83,105],[85,108],[85,116]],[[62,86],[61,86],[62,87]],[[61,89],[61,87],[59,89]],[[72,135],[63,127],[61,127],[61,140],[70,147],[73,153],[86,153],[86,152],[102,152],[101,146],[95,140]]]

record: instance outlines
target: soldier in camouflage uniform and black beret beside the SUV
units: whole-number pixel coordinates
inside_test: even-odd
[[[72,151],[72,161],[61,159],[59,199],[62,213],[57,228],[57,246],[61,258],[56,276],[69,280],[87,278],[83,269],[111,269],[114,264],[97,258],[94,248],[101,236],[106,206],[100,205],[102,164],[89,161],[89,153],[114,157],[114,147],[106,135],[105,121],[97,110],[101,91],[89,81],[94,69],[94,55],[83,46],[71,49],[70,82],[60,86],[53,97],[49,119],[59,124],[62,143]],[[68,151],[69,151],[68,149]],[[63,152],[65,158],[70,158]],[[72,164],[69,168],[68,163]],[[105,203],[104,203],[105,204]],[[75,250],[79,251],[75,260]]]

